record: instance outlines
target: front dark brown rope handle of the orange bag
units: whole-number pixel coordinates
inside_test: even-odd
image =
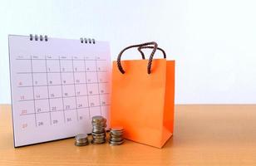
[[[121,66],[121,55],[124,53],[124,51],[126,51],[126,50],[128,50],[130,48],[133,48],[133,47],[141,47],[141,46],[148,46],[148,45],[154,45],[153,46],[153,50],[152,50],[152,52],[150,54],[149,63],[148,63],[148,66],[147,66],[147,72],[148,72],[148,74],[150,74],[151,73],[151,66],[152,66],[153,56],[154,56],[155,51],[157,49],[157,43],[155,41],[145,42],[145,43],[142,43],[142,44],[137,44],[137,45],[132,45],[132,46],[127,46],[126,48],[124,48],[119,53],[119,55],[117,56],[117,67],[118,67],[119,71],[121,71],[122,74],[126,73],[126,71]]]

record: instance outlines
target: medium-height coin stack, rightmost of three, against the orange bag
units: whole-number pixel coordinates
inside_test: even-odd
[[[120,145],[124,143],[123,139],[124,129],[122,127],[113,127],[110,131],[110,140],[111,145]]]

